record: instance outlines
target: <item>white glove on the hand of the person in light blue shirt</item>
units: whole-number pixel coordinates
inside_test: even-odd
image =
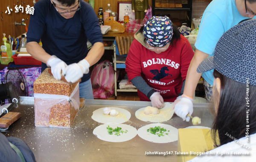
[[[192,115],[193,113],[192,99],[181,95],[177,97],[176,100],[174,101],[176,103],[174,106],[175,113],[177,114],[177,116],[182,118],[183,121],[186,120],[186,122],[189,122],[190,117],[187,115]]]

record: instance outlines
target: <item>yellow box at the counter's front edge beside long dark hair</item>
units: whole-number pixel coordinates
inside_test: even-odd
[[[179,155],[178,162],[187,162],[198,154],[215,148],[210,129],[183,128],[178,133],[178,152],[187,153]]]

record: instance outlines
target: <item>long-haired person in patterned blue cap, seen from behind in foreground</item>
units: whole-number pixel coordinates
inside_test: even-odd
[[[256,158],[256,20],[247,20],[224,33],[214,56],[197,71],[214,69],[215,148],[228,156],[198,156],[191,162],[252,162]],[[249,154],[250,153],[250,154]],[[238,156],[240,155],[240,156]]]

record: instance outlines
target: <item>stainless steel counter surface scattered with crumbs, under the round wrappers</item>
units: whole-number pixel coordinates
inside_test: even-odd
[[[91,119],[94,110],[107,106],[124,108],[131,113],[131,119],[124,124],[138,129],[150,122],[138,120],[134,113],[149,105],[150,102],[144,101],[87,100],[71,128],[35,127],[34,100],[23,97],[13,110],[22,113],[21,118],[2,133],[23,139],[38,162],[176,162],[175,155],[145,155],[145,151],[177,151],[177,141],[158,144],[136,136],[127,142],[114,143],[102,141],[93,135],[93,129],[100,125]],[[201,126],[212,125],[213,116],[208,107],[209,104],[194,105],[193,115],[201,117]],[[192,125],[176,115],[163,123],[176,128]]]

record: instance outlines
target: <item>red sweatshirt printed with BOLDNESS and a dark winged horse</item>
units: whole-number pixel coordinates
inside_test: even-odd
[[[134,39],[125,61],[128,79],[131,81],[142,76],[150,87],[160,92],[164,101],[175,101],[193,55],[189,41],[182,35],[160,54],[150,51]],[[150,101],[139,90],[138,95],[141,101]]]

